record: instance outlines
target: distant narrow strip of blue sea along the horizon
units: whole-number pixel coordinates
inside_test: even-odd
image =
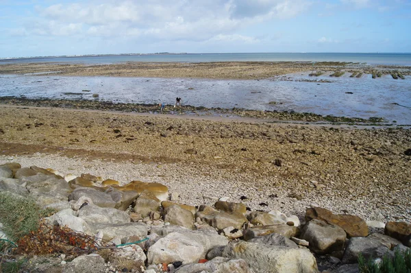
[[[377,53],[225,53],[225,54],[162,54],[142,56],[52,57],[0,60],[0,64],[16,62],[59,62],[113,64],[118,62],[361,62],[366,64],[397,64],[411,66],[411,54]]]

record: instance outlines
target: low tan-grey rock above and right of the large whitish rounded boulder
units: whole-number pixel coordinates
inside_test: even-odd
[[[213,228],[223,230],[229,226],[241,229],[242,225],[247,222],[247,218],[242,213],[225,213],[216,211],[207,206],[201,206],[196,213],[203,223],[207,223]]]

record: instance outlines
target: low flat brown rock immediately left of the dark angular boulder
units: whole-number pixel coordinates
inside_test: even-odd
[[[278,233],[284,237],[297,237],[300,234],[300,230],[297,226],[288,226],[286,224],[279,225],[269,225],[269,226],[253,226],[252,228],[247,228],[244,231],[243,236],[245,241],[250,239],[269,235],[271,233]]]

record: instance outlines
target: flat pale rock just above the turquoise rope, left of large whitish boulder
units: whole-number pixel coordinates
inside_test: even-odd
[[[103,239],[110,241],[114,237],[121,239],[121,244],[138,241],[147,237],[148,227],[144,223],[126,224],[90,224],[93,233],[103,233]],[[133,239],[129,241],[128,239]]]

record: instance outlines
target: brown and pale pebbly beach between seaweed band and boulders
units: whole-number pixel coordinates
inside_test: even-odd
[[[138,169],[137,178],[163,182],[187,204],[229,196],[299,216],[316,204],[364,219],[410,221],[410,129],[22,106],[0,106],[0,115],[1,162],[36,165],[41,157],[39,167],[68,171],[68,162],[86,161],[110,169],[108,175]]]

